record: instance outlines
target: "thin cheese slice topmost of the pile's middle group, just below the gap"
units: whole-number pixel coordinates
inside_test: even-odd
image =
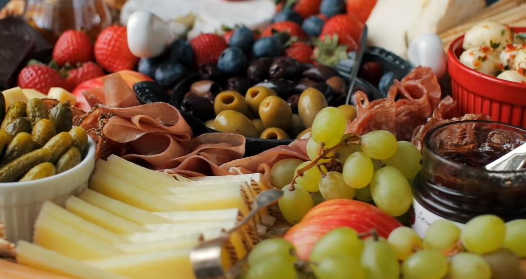
[[[103,210],[139,225],[164,224],[170,222],[169,219],[164,218],[162,215],[158,215],[159,213],[153,214],[141,210],[140,208],[114,200],[113,198],[97,193],[93,190],[85,189],[80,195],[78,195],[78,197],[90,204],[102,208]]]

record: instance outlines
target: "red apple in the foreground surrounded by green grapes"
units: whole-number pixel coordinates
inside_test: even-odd
[[[308,260],[312,247],[326,233],[339,227],[350,227],[358,233],[376,228],[387,238],[402,224],[380,208],[354,200],[330,200],[313,207],[301,221],[292,226],[284,238],[296,246],[299,258]]]

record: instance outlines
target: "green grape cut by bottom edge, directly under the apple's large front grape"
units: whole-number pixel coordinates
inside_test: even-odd
[[[366,279],[360,262],[348,255],[328,256],[316,268],[317,279]]]

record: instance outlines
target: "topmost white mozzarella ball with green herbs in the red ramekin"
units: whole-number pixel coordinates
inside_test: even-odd
[[[513,43],[513,38],[514,34],[509,26],[497,22],[483,22],[469,29],[464,36],[462,48],[489,46],[501,52],[506,45]]]

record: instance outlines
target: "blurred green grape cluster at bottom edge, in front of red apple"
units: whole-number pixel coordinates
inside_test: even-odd
[[[243,279],[398,279],[400,265],[385,241],[362,241],[348,227],[330,231],[313,246],[308,261],[282,238],[257,244],[248,256]]]

